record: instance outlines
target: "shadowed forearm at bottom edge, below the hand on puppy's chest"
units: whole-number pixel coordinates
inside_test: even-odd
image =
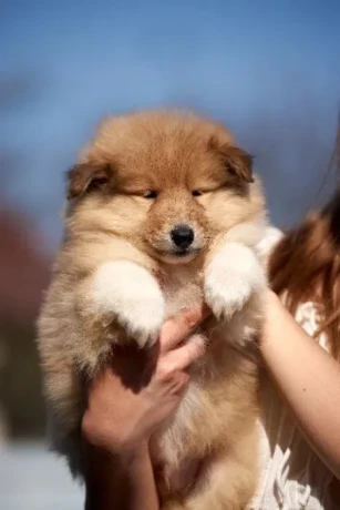
[[[113,455],[86,447],[85,510],[158,510],[147,446]]]

